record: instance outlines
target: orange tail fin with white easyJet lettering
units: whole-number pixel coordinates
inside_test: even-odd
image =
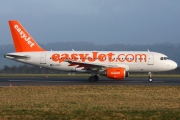
[[[16,20],[9,21],[16,52],[45,51]]]

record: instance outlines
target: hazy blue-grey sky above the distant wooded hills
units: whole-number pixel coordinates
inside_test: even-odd
[[[0,16],[0,45],[12,19],[38,43],[180,43],[180,0],[3,0]]]

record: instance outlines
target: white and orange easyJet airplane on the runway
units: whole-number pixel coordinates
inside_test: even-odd
[[[16,52],[5,58],[39,67],[61,71],[90,73],[89,82],[99,80],[99,75],[123,80],[129,72],[147,72],[152,82],[152,72],[169,71],[177,63],[162,53],[148,51],[46,51],[41,48],[17,20],[9,26]]]

